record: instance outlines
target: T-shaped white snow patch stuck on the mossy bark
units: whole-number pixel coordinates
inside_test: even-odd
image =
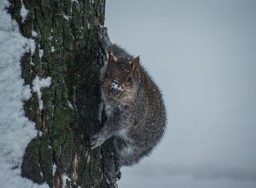
[[[50,86],[50,81],[51,78],[48,77],[46,79],[39,79],[39,77],[35,77],[33,82],[32,82],[32,90],[34,92],[37,92],[38,95],[38,101],[39,101],[39,110],[41,111],[44,107],[43,103],[42,103],[42,93],[41,93],[41,88],[42,87],[49,87]]]

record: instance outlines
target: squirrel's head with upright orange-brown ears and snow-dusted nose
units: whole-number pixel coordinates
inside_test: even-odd
[[[108,63],[102,72],[101,82],[109,99],[129,100],[135,93],[135,76],[138,73],[140,58],[116,58],[110,50]]]

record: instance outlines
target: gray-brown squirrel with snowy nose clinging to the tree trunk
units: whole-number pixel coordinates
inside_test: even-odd
[[[110,42],[108,28],[99,26],[98,40],[108,52],[99,80],[108,120],[91,136],[91,149],[113,137],[116,171],[151,153],[166,129],[166,112],[159,88],[140,65],[140,57]],[[121,176],[121,174],[120,174]]]

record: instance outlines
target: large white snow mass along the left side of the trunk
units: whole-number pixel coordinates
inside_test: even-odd
[[[20,34],[18,24],[7,14],[7,0],[0,1],[0,179],[1,187],[48,187],[20,176],[26,146],[37,136],[34,122],[23,111],[23,100],[31,97],[29,85],[23,86],[20,58],[34,52],[34,40]],[[23,7],[23,12],[26,12]],[[22,13],[23,13],[22,12]],[[23,14],[25,19],[25,14]],[[49,81],[49,79],[48,79]],[[47,86],[47,85],[46,85]]]

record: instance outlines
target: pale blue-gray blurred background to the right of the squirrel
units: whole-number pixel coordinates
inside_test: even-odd
[[[256,187],[256,1],[107,0],[105,25],[140,55],[169,120],[119,187]]]

